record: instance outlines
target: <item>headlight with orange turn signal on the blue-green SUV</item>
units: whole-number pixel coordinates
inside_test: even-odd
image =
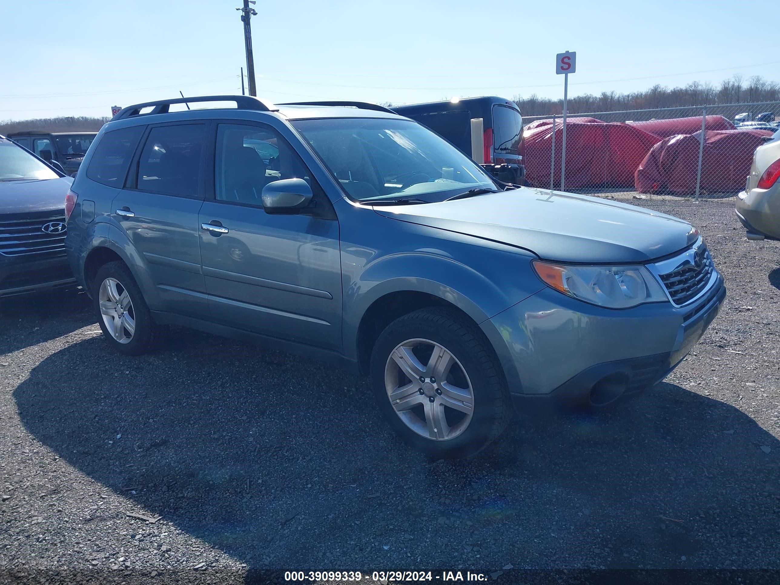
[[[545,284],[586,303],[626,309],[642,303],[661,303],[668,297],[644,266],[575,266],[534,261]]]

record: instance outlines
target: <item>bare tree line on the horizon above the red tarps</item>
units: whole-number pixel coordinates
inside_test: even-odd
[[[711,83],[693,81],[685,87],[671,89],[655,84],[650,89],[629,94],[602,91],[600,95],[583,94],[569,97],[569,113],[615,112],[649,108],[678,108],[713,104],[738,104],[753,101],[780,100],[780,84],[753,76],[745,80],[741,75],[723,80],[719,87]],[[516,96],[515,103],[523,115],[561,115],[563,100]],[[780,113],[780,112],[778,112]]]

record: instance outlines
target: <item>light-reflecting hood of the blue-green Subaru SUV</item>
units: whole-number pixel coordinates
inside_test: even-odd
[[[530,250],[562,262],[646,262],[690,246],[682,219],[616,201],[521,189],[434,204],[375,206],[387,218]]]

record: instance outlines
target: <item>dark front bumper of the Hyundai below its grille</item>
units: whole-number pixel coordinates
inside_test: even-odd
[[[0,296],[21,295],[76,284],[64,255],[0,264]]]

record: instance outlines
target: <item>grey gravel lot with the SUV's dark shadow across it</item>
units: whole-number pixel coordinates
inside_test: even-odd
[[[0,580],[780,568],[780,243],[730,201],[631,202],[700,227],[721,314],[640,398],[521,415],[467,461],[411,452],[332,367],[183,329],[118,356],[83,294],[4,300]]]

